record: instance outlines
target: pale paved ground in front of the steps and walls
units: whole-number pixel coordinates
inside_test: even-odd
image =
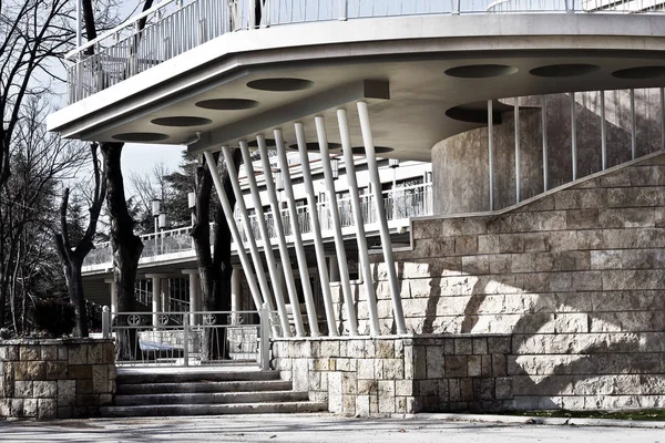
[[[523,419],[516,419],[520,422]],[[217,418],[0,421],[0,442],[630,442],[665,443],[665,429],[450,421],[348,419],[326,414]],[[663,424],[661,424],[662,426]]]

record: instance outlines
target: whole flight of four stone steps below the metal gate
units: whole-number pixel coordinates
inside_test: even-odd
[[[327,404],[293,390],[277,372],[119,370],[113,404],[103,416],[266,414],[327,411]]]

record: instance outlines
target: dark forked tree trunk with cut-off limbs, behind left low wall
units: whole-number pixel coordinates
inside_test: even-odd
[[[83,295],[83,280],[81,268],[83,260],[93,248],[94,235],[96,233],[98,220],[102,204],[106,197],[106,181],[103,179],[98,162],[98,144],[90,144],[90,154],[92,157],[94,189],[91,196],[91,205],[89,208],[90,216],[88,218],[88,227],[83,236],[78,240],[75,246],[72,246],[73,239],[69,231],[68,207],[70,198],[70,189],[65,188],[60,203],[60,231],[55,233],[55,247],[66,280],[66,288],[70,296],[70,301],[74,306],[75,323],[74,337],[88,337],[88,316],[85,309],[85,296]]]

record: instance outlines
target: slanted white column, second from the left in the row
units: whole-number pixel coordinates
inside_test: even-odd
[[[258,251],[258,247],[256,246],[256,238],[254,238],[254,235],[252,233],[252,223],[249,222],[249,214],[247,214],[247,206],[245,206],[243,189],[241,189],[241,181],[238,179],[238,173],[236,173],[235,171],[233,156],[228,146],[222,146],[222,154],[224,154],[224,162],[226,163],[226,173],[228,174],[228,181],[231,182],[233,193],[236,196],[236,208],[241,213],[241,217],[243,218],[243,226],[245,227],[245,233],[247,234],[247,244],[249,245],[249,254],[252,255],[252,261],[254,262],[254,271],[256,272],[256,279],[258,280],[258,286],[260,288],[260,292],[263,293],[262,299],[264,303],[268,305],[268,309],[274,311],[275,303],[273,302],[273,298],[270,297],[270,287],[268,286],[268,279],[266,278],[266,272],[263,268],[260,253]],[[257,307],[256,309],[260,310],[262,308],[263,305]],[[275,332],[278,332],[277,329],[275,329]]]

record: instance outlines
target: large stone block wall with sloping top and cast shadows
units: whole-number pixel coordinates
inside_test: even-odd
[[[515,409],[665,408],[664,227],[665,154],[502,213],[415,219],[412,248],[395,254],[407,327],[509,336]],[[371,256],[387,333],[381,258]]]

